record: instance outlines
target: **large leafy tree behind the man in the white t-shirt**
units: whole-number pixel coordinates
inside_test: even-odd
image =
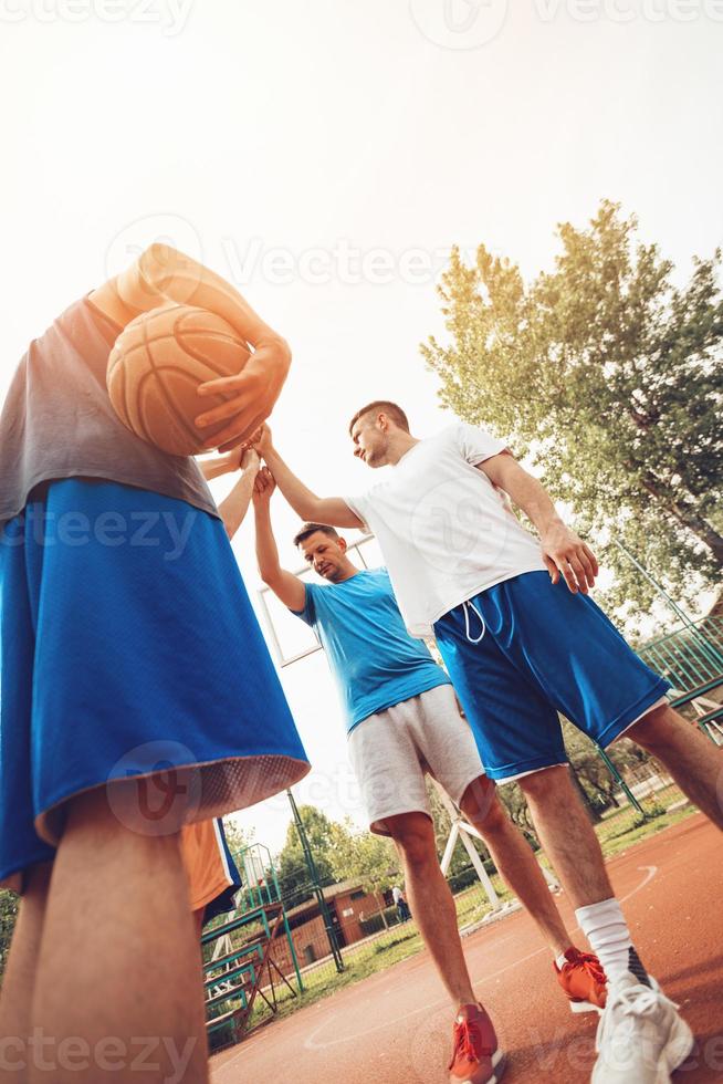
[[[422,345],[440,398],[530,455],[578,530],[611,532],[691,601],[723,570],[721,252],[684,286],[635,217],[604,201],[558,228],[551,272],[526,284],[482,244],[458,249],[439,292],[449,345]],[[652,588],[611,546],[608,602],[647,611]]]

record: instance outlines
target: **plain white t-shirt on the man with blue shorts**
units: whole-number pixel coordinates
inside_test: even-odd
[[[539,542],[476,463],[505,450],[459,421],[420,440],[359,497],[345,497],[376,534],[412,636],[495,583],[546,571]]]

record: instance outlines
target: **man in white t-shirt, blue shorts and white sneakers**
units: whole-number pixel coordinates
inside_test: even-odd
[[[668,684],[589,598],[595,554],[504,441],[463,423],[419,440],[386,400],[357,411],[349,435],[355,456],[389,468],[354,497],[318,498],[266,434],[259,450],[304,519],[376,534],[407,627],[437,637],[488,775],[518,781],[610,983],[594,1084],[666,1081],[693,1036],[632,947],[558,713],[602,747],[625,733],[653,753],[717,826],[721,753],[668,706]]]

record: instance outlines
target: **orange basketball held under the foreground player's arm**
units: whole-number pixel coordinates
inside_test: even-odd
[[[171,456],[195,456],[228,425],[196,427],[195,418],[226,399],[199,396],[199,385],[234,376],[250,356],[221,316],[164,305],[136,316],[116,338],[106,373],[111,403],[137,437]]]

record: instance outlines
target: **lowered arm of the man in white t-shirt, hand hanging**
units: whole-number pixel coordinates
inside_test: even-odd
[[[560,574],[576,594],[587,594],[595,585],[598,563],[581,539],[565,525],[544,487],[524,470],[514,456],[502,452],[479,463],[493,484],[509,493],[514,503],[532,520],[539,533],[543,557],[553,583]]]

